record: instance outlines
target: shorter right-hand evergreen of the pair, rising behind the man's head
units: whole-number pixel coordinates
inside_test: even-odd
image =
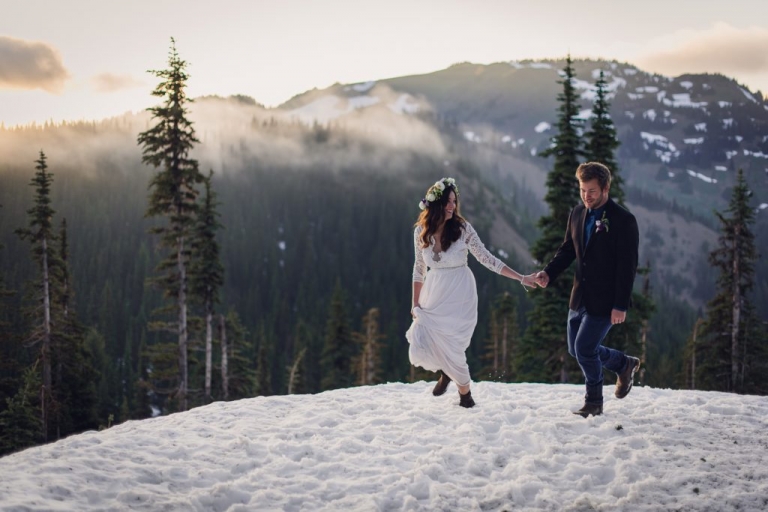
[[[607,85],[603,70],[600,70],[600,77],[595,83],[592,128],[585,134],[587,139],[585,157],[588,162],[600,162],[611,170],[611,198],[623,206],[624,180],[615,157],[620,142],[616,135],[616,126],[611,119]]]

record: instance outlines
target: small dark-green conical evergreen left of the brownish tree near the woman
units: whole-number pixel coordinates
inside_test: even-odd
[[[354,346],[347,320],[344,290],[341,283],[336,281],[336,287],[331,296],[328,322],[325,326],[325,343],[320,359],[320,367],[323,371],[320,386],[323,391],[352,386]]]

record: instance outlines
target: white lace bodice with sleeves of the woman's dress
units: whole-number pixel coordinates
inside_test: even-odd
[[[497,274],[504,268],[504,262],[490,253],[485,248],[477,231],[467,222],[464,224],[464,230],[458,240],[453,242],[447,251],[440,251],[435,254],[435,241],[429,244],[429,247],[421,247],[421,226],[417,226],[413,231],[413,248],[415,252],[415,261],[413,263],[413,280],[424,282],[427,276],[427,267],[452,268],[461,267],[467,264],[467,254],[472,253],[477,261],[485,267],[493,270]]]

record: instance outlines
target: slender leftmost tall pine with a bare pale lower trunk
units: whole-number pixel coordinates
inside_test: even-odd
[[[43,441],[48,441],[48,429],[50,427],[50,408],[53,399],[52,373],[51,373],[51,283],[53,269],[56,267],[56,253],[54,244],[56,235],[53,231],[53,215],[55,210],[51,206],[51,185],[53,174],[48,172],[48,164],[43,151],[40,158],[35,161],[37,172],[30,182],[35,188],[35,206],[27,210],[29,214],[29,227],[19,228],[16,234],[22,240],[30,240],[32,243],[32,256],[38,265],[39,277],[34,283],[35,302],[42,306],[35,319],[35,326],[30,341],[33,344],[41,343],[40,357],[42,361],[42,388],[40,394],[40,411],[43,429]]]

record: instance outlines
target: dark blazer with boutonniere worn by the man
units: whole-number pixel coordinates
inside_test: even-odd
[[[607,229],[594,231],[584,247],[587,212],[583,204],[571,210],[565,240],[544,271],[551,282],[575,259],[569,307],[576,311],[583,306],[591,315],[610,316],[612,309],[626,311],[631,304],[639,245],[637,220],[609,198],[604,210]]]

